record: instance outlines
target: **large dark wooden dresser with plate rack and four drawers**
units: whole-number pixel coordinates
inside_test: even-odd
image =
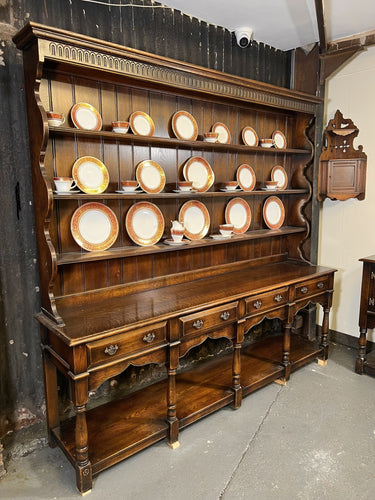
[[[334,270],[309,262],[312,187],[306,177],[314,157],[310,124],[321,100],[35,23],[14,42],[24,56],[49,437],[72,462],[84,493],[92,476],[110,465],[160,439],[174,448],[185,426],[225,405],[240,408],[243,396],[286,381],[314,358],[327,360]],[[70,110],[78,102],[98,110],[101,131],[74,128]],[[65,115],[63,127],[49,127],[48,110]],[[134,111],[152,117],[152,137],[111,131],[112,121]],[[194,117],[198,140],[173,136],[176,111]],[[218,122],[230,131],[229,144],[202,140]],[[246,146],[244,127],[259,138],[280,130],[286,148]],[[55,194],[54,177],[71,177],[83,156],[105,165],[107,189]],[[213,185],[203,193],[175,193],[191,156],[209,163]],[[116,193],[144,160],[162,166],[163,192]],[[254,170],[255,189],[220,191],[242,164]],[[264,191],[276,165],[285,170],[286,188]],[[285,209],[275,230],[262,214],[270,195]],[[233,197],[248,203],[248,230],[229,240],[210,237]],[[181,247],[166,245],[169,221],[190,199],[206,206],[209,232]],[[140,246],[129,238],[125,218],[147,200],[162,213],[165,230],[157,244]],[[118,238],[107,250],[85,251],[72,236],[72,216],[86,202],[110,208],[119,222]],[[291,335],[294,316],[309,303],[324,310],[318,342]],[[248,332],[265,318],[279,319],[281,333],[245,347]],[[181,358],[208,339],[227,339],[228,353],[181,371]],[[164,380],[90,407],[90,391],[129,366],[148,364],[164,365]],[[65,420],[58,411],[57,371],[71,388],[75,416]]]

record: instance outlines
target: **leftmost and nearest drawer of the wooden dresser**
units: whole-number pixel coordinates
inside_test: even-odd
[[[136,351],[146,350],[166,341],[166,322],[113,335],[87,344],[88,364],[121,358]]]

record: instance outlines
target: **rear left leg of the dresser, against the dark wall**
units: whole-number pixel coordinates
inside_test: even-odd
[[[52,429],[58,427],[60,423],[59,408],[58,408],[58,391],[57,391],[57,370],[52,363],[50,355],[46,349],[42,347],[43,356],[43,373],[44,373],[44,390],[46,395],[46,412],[47,412],[47,430],[48,442],[53,448],[56,446],[56,441],[52,434]]]

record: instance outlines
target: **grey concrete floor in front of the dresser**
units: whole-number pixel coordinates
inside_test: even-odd
[[[333,345],[283,387],[271,384],[94,479],[90,500],[373,500],[375,379]],[[43,448],[6,464],[2,500],[80,498],[63,453]]]

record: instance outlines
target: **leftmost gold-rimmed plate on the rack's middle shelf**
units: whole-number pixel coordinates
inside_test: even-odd
[[[94,156],[81,156],[73,164],[72,177],[81,191],[87,194],[103,193],[109,184],[109,173]]]

